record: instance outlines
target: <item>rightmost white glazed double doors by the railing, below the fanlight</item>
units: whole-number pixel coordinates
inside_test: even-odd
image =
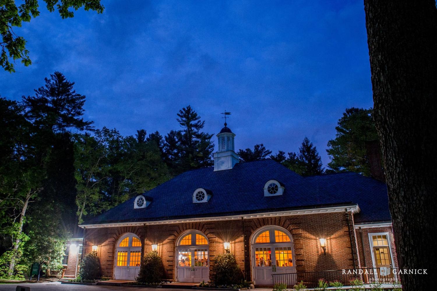
[[[254,279],[257,285],[272,285],[272,274],[295,273],[292,247],[289,243],[253,246]]]

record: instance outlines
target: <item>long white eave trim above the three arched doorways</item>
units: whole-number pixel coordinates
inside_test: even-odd
[[[245,215],[233,215],[233,216],[216,216],[205,218],[187,218],[187,219],[171,219],[171,220],[159,220],[159,221],[140,221],[140,222],[125,222],[125,223],[101,223],[101,224],[83,224],[79,225],[83,228],[101,228],[101,227],[118,227],[118,226],[139,226],[139,225],[157,225],[157,224],[171,224],[171,223],[187,223],[187,222],[200,222],[200,221],[214,221],[214,220],[233,220],[233,219],[251,219],[257,217],[274,217],[274,216],[293,216],[293,215],[305,215],[305,214],[318,214],[318,213],[331,213],[331,212],[344,212],[344,209],[351,211],[352,213],[360,212],[360,207],[357,204],[349,206],[337,206],[337,207],[324,207],[316,209],[301,209],[301,210],[287,210],[278,212],[264,212]]]

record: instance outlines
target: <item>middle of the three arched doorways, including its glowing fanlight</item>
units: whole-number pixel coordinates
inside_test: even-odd
[[[197,230],[182,233],[177,240],[176,268],[178,282],[208,282],[208,238]]]

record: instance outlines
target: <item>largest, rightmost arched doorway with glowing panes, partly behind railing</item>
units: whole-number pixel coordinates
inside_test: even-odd
[[[295,273],[295,251],[291,234],[279,226],[266,226],[252,237],[253,280],[272,285],[272,274]]]

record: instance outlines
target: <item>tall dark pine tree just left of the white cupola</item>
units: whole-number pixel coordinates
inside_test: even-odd
[[[182,130],[172,130],[164,138],[164,161],[178,174],[190,169],[203,168],[212,165],[214,143],[212,134],[202,132],[205,121],[191,106],[179,110],[177,122]]]

